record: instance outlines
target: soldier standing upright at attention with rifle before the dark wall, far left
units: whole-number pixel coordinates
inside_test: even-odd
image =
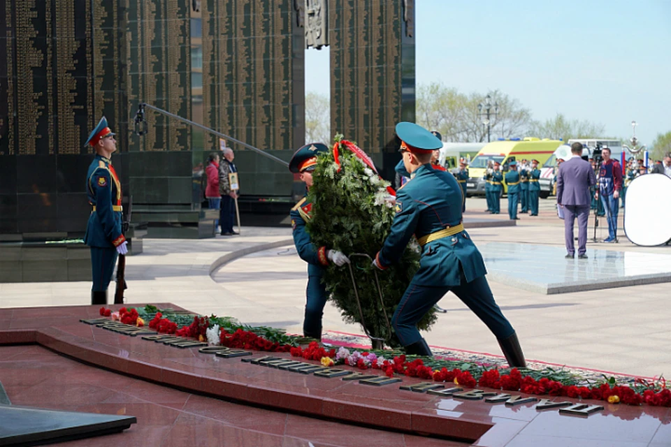
[[[107,288],[117,256],[128,252],[121,225],[121,182],[110,161],[113,152],[117,150],[114,135],[107,119],[102,117],[85,143],[96,151],[87,173],[86,192],[93,210],[84,236],[84,243],[91,247],[92,305],[107,304]]]

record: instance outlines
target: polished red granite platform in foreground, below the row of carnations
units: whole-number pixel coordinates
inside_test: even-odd
[[[159,307],[177,308],[170,304],[161,304]],[[118,409],[113,410],[111,406],[105,406],[107,403],[113,406],[119,403],[106,402],[113,398],[115,391],[115,393],[127,393],[141,402],[158,405],[155,408],[143,407],[141,415],[132,411],[133,406],[124,406],[127,414],[138,416],[138,427],[131,428],[124,434],[115,435],[122,437],[131,434],[133,430],[144,430],[143,424],[147,420],[162,417],[160,415],[168,411],[159,402],[154,402],[154,395],[181,393],[192,395],[194,400],[199,402],[206,401],[206,404],[202,404],[203,408],[208,408],[208,411],[202,413],[205,417],[211,418],[212,416],[207,416],[210,413],[223,415],[227,413],[226,409],[229,409],[229,406],[235,408],[230,410],[231,414],[247,414],[248,420],[244,423],[241,422],[245,419],[243,416],[238,419],[233,417],[228,422],[224,420],[226,427],[230,425],[238,430],[264,432],[266,428],[274,426],[272,420],[284,417],[285,421],[287,418],[295,419],[296,427],[303,424],[316,430],[315,434],[309,436],[289,436],[291,438],[289,442],[286,439],[285,423],[282,436],[277,434],[282,439],[280,444],[276,444],[277,439],[274,438],[263,441],[261,439],[252,441],[250,438],[250,441],[235,445],[308,445],[305,440],[310,440],[314,445],[372,444],[359,441],[350,443],[345,438],[335,436],[329,439],[317,437],[321,430],[319,427],[332,427],[329,432],[342,431],[343,436],[349,436],[350,430],[361,432],[363,437],[368,436],[369,432],[384,434],[390,440],[389,444],[384,443],[387,445],[671,446],[671,409],[668,408],[612,405],[588,400],[584,403],[603,405],[605,409],[589,417],[580,418],[561,415],[556,409],[538,411],[533,403],[506,406],[503,403],[459,400],[449,396],[413,393],[399,389],[401,385],[421,382],[419,379],[404,377],[403,383],[381,387],[368,386],[358,381],[325,379],[312,374],[298,374],[250,365],[247,362],[240,362],[240,358],[220,358],[199,353],[196,348],[178,349],[140,337],[110,332],[79,321],[80,318],[97,317],[99,317],[97,307],[0,309],[0,345],[38,344],[50,350],[45,351],[35,346],[0,346],[0,358],[3,359],[0,360],[0,381],[7,388],[10,399],[14,401],[17,396],[20,397],[20,402],[13,404],[38,406],[42,397],[50,392],[53,396],[51,400],[47,400],[50,405],[43,406],[72,409],[72,405],[75,405],[81,411],[92,411],[90,408],[82,408],[87,408],[87,405],[103,405],[101,408],[108,408],[110,412],[117,413]],[[27,360],[38,351],[61,353],[90,365],[106,368],[108,371],[83,366],[59,356],[55,358],[47,356],[43,365],[47,367],[26,368],[24,365],[27,364],[18,362],[22,358]],[[264,353],[254,353],[254,358],[263,355]],[[288,354],[273,356],[289,358]],[[16,363],[9,365],[8,361]],[[60,361],[78,365],[71,369],[77,370],[77,374],[82,374],[84,379],[75,379],[74,373],[64,374],[59,371]],[[80,368],[85,368],[86,371]],[[67,391],[61,395],[54,395],[53,389],[58,383],[57,381],[52,383],[50,380],[43,384],[42,392],[28,393],[29,388],[24,388],[17,395],[13,395],[17,393],[16,387],[33,388],[36,384],[29,383],[30,380],[50,378],[50,374],[55,375],[55,371],[59,372],[59,376],[62,376],[66,383],[67,381],[70,381],[71,385],[77,383],[82,389],[79,392]],[[156,384],[137,381],[128,376],[146,379]],[[27,382],[22,384],[22,380]],[[123,383],[126,383],[124,381],[140,385],[134,385],[135,388],[124,388]],[[84,383],[87,385],[82,385]],[[115,386],[110,388],[113,384]],[[182,391],[166,386],[178,387]],[[128,390],[131,389],[134,391],[129,393]],[[127,400],[125,404],[133,404],[129,397],[124,399]],[[191,399],[189,397],[189,402]],[[561,400],[569,399],[561,398]],[[233,404],[231,401],[236,403]],[[62,406],[58,406],[60,404]],[[156,413],[153,413],[154,411]],[[185,411],[185,404],[174,411]],[[198,418],[194,418],[192,412],[187,413],[188,416],[180,416],[180,419],[183,417],[185,421],[189,421],[189,418],[192,418],[194,422],[186,422],[185,427],[179,430],[188,432],[193,431],[194,427],[203,421],[199,422]],[[327,422],[328,420],[333,422]],[[368,428],[359,427],[361,425]],[[166,429],[166,425],[161,427],[163,427],[161,430]],[[178,430],[175,428],[175,423],[171,423],[167,429],[170,432]],[[301,431],[300,428],[295,430],[292,433]],[[209,433],[208,436],[214,437],[213,439],[219,439],[219,436],[224,439],[227,436],[223,428],[219,430],[210,427],[205,431]],[[364,432],[366,434],[363,434]],[[424,436],[442,439],[420,438]],[[156,439],[158,438],[157,435]],[[303,441],[300,441],[301,439]],[[413,444],[416,441],[419,444]],[[146,441],[142,444],[166,445]],[[379,444],[379,441],[375,444]]]

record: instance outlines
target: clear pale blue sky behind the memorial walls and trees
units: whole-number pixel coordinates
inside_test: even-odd
[[[534,119],[559,112],[623,138],[635,119],[647,145],[671,131],[670,0],[415,4],[418,85],[499,89]],[[328,94],[328,49],[306,66],[306,91]]]

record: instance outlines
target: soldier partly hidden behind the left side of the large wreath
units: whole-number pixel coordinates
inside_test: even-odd
[[[312,186],[312,171],[317,167],[317,156],[329,152],[329,147],[315,142],[298,149],[289,161],[289,170],[300,174],[305,186]],[[322,339],[322,315],[326,305],[326,287],[322,283],[324,267],[329,261],[341,266],[349,263],[349,259],[340,251],[329,250],[326,247],[315,247],[310,240],[310,234],[305,223],[312,215],[312,203],[308,202],[307,195],[291,209],[291,228],[293,228],[294,245],[298,256],[308,263],[308,288],[305,291],[305,320],[303,321],[303,335],[315,339]]]

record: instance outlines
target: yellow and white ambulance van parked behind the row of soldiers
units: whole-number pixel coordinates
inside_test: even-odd
[[[466,196],[484,196],[484,186],[486,184],[484,175],[487,170],[487,163],[490,160],[501,163],[504,173],[508,170],[508,163],[512,160],[519,163],[522,159],[526,159],[531,163],[532,159],[536,159],[539,162],[538,166],[543,166],[543,163],[562,144],[561,140],[549,140],[547,138],[541,140],[533,137],[490,142],[480,149],[477,156],[468,165],[469,178],[466,182]],[[506,193],[507,190],[507,186],[503,182],[503,192]]]

